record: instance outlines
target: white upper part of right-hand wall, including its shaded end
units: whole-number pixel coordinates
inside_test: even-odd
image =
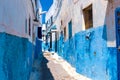
[[[62,0],[62,8],[54,25],[60,33],[64,27],[68,30],[68,23],[72,20],[73,36],[85,30],[83,9],[93,5],[93,27],[107,26],[108,47],[116,46],[115,9],[120,7],[120,0]],[[49,14],[49,12],[48,12]],[[61,25],[61,20],[63,25]],[[112,33],[112,36],[111,36]],[[68,31],[66,31],[68,39]]]

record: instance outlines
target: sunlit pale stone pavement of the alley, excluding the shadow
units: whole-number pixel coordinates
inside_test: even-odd
[[[56,53],[44,52],[44,57],[48,60],[47,67],[50,69],[54,80],[91,80],[78,74],[69,63]]]

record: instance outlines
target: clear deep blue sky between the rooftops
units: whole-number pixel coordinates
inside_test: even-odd
[[[42,5],[42,11],[48,11],[53,3],[53,0],[40,0],[40,3]],[[42,18],[42,23],[45,23],[45,14],[42,15]]]

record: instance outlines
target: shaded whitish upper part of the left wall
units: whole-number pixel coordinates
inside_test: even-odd
[[[30,0],[0,0],[0,32],[20,37],[28,37],[25,33],[26,19],[29,27],[31,18],[31,34],[35,14]],[[27,30],[28,31],[28,30]]]

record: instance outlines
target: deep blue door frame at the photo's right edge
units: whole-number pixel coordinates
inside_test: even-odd
[[[116,24],[116,48],[117,48],[117,72],[118,80],[120,80],[120,7],[115,10]]]

